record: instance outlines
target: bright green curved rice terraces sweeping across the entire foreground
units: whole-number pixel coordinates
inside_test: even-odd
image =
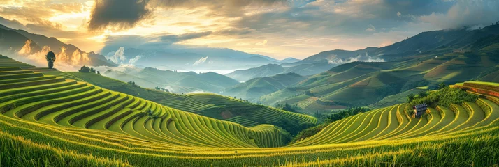
[[[407,112],[411,106],[396,104],[287,143],[280,127],[262,122],[317,119],[206,93],[152,102],[85,81],[1,57],[0,166],[499,164],[499,84],[451,86],[479,96],[475,102],[429,107],[421,118]],[[243,104],[249,113],[224,113],[221,107],[243,111]],[[201,116],[216,110],[223,114]]]

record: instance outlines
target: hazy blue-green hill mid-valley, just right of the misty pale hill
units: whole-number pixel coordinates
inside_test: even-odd
[[[224,95],[230,95],[256,102],[262,95],[273,93],[277,90],[292,86],[306,79],[299,74],[287,73],[277,74],[272,77],[260,77],[250,79],[244,83],[237,84],[224,90]]]

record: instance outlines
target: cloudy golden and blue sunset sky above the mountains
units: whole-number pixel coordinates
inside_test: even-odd
[[[0,24],[87,52],[218,47],[302,59],[476,29],[498,21],[498,8],[499,0],[1,0]]]

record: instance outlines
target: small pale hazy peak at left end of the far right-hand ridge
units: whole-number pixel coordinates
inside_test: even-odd
[[[226,76],[238,81],[247,81],[258,77],[273,76],[282,72],[284,72],[284,67],[277,64],[268,64],[262,65],[260,67],[250,68],[247,70],[236,70],[234,72],[226,74]]]

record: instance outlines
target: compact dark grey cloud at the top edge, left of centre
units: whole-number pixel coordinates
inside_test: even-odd
[[[127,29],[150,17],[152,11],[147,8],[150,0],[96,0],[88,28],[104,29],[113,26]]]

